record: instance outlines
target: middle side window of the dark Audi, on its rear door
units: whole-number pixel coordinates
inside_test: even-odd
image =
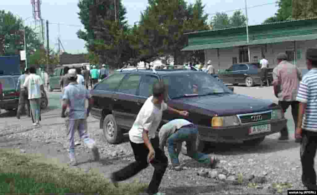
[[[118,92],[136,95],[137,90],[139,88],[140,80],[141,80],[141,75],[139,74],[129,75],[128,78],[125,78],[122,81]]]

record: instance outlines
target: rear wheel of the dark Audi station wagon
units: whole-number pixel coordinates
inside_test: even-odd
[[[112,114],[109,114],[103,120],[103,138],[111,144],[119,144],[122,142],[122,130],[118,128],[116,120]]]

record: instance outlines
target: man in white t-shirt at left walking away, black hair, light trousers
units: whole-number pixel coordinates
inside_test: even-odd
[[[30,67],[29,71],[30,74],[25,79],[23,87],[28,90],[33,126],[39,126],[41,120],[41,90],[44,91],[43,81],[39,75],[35,74],[35,67]]]

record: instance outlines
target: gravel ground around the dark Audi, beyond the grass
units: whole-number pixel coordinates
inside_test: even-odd
[[[277,102],[272,87],[235,87],[235,92]],[[14,113],[2,110],[0,147],[20,148],[22,153],[41,154],[47,162],[65,165],[68,162],[68,142],[64,119],[60,117],[60,92],[48,92],[48,96],[49,108],[43,111],[42,127],[38,129],[32,128],[30,118],[23,116],[18,120]],[[291,118],[290,110],[287,111],[286,117]],[[292,123],[290,119],[290,130]],[[134,160],[127,135],[122,144],[112,145],[103,141],[98,120],[89,117],[88,128],[90,136],[100,148],[101,163],[90,161],[91,152],[81,144],[75,149],[79,168],[85,171],[93,169],[107,177],[112,171]],[[278,136],[279,134],[267,136],[264,142],[256,147],[243,144],[208,145],[205,152],[221,159],[218,167],[213,170],[181,154],[179,159],[184,169],[173,171],[169,167],[160,191],[186,194],[275,194],[287,193],[288,189],[304,189],[300,179],[299,144],[295,143],[293,138],[289,141],[279,141]],[[76,137],[78,138],[78,135]],[[165,154],[168,156],[166,148]],[[125,182],[138,179],[148,183],[153,170],[154,168],[149,166]]]

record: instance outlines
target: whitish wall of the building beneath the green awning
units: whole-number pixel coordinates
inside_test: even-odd
[[[317,48],[317,40],[311,41],[296,41],[297,50],[300,51],[301,56],[298,56],[297,66],[306,68],[306,50],[307,48]],[[282,42],[265,45],[250,46],[250,59],[253,62],[254,57],[257,56],[259,60],[262,59],[261,47],[263,47],[263,54],[269,62],[269,67],[274,68],[277,65],[276,55],[286,50],[294,51],[294,42]],[[239,63],[239,47],[219,49],[219,60],[217,56],[217,49],[207,49],[205,52],[205,64],[208,60],[212,61],[212,65],[218,70],[218,62],[220,61],[220,69],[224,70],[232,65],[232,58],[236,57]]]

